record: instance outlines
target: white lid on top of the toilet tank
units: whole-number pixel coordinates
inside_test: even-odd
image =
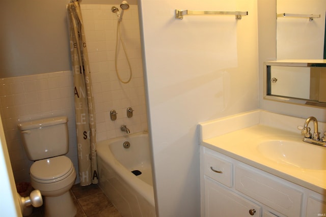
[[[61,123],[68,122],[68,117],[50,117],[45,119],[31,120],[22,123],[18,123],[19,130],[31,130],[35,128],[48,127],[52,125],[60,125]]]

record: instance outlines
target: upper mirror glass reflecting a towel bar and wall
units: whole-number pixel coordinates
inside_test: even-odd
[[[325,11],[325,0],[277,0],[277,59],[323,59]]]

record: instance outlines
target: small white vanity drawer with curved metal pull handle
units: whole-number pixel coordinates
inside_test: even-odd
[[[233,186],[233,164],[213,156],[206,149],[203,154],[203,172],[210,178],[226,185]]]

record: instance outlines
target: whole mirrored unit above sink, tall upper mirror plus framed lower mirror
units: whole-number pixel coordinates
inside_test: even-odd
[[[264,99],[326,107],[325,0],[276,0],[276,61],[264,63]]]

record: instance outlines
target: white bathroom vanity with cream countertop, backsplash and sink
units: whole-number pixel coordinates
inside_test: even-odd
[[[326,216],[326,147],[302,141],[304,122],[255,110],[200,123],[201,215]]]

